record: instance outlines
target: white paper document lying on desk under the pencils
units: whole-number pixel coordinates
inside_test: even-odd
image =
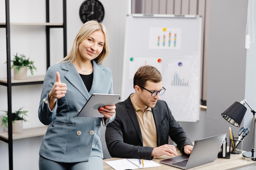
[[[119,159],[115,161],[105,161],[109,166],[114,168],[115,170],[126,170],[126,169],[140,169],[140,168],[150,168],[150,167],[156,167],[161,166],[158,163],[152,161],[152,160],[143,160],[144,166],[142,163],[140,164],[139,159]]]

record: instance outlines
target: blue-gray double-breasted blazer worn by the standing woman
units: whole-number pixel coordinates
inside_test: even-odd
[[[61,82],[67,84],[67,93],[50,110],[49,92],[56,81],[56,71],[61,75]],[[72,63],[55,64],[47,69],[38,109],[40,121],[49,125],[40,146],[41,156],[58,162],[88,161],[90,156],[103,158],[100,141],[103,118],[77,117],[92,93],[113,93],[112,72],[109,68],[93,61],[90,92]],[[107,123],[114,119],[108,119]]]

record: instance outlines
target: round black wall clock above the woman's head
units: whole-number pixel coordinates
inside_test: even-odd
[[[80,19],[83,23],[90,20],[101,22],[104,18],[104,8],[99,0],[85,0],[79,10]]]

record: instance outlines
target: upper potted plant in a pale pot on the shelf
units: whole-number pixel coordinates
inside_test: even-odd
[[[36,70],[34,61],[29,60],[29,58],[26,58],[23,54],[18,56],[18,53],[16,53],[16,55],[13,56],[14,58],[11,60],[13,64],[11,68],[14,68],[14,79],[26,79],[28,69],[30,70],[31,75],[34,74],[34,70]]]

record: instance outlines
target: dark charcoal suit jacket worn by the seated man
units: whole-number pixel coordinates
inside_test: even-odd
[[[143,146],[139,121],[130,96],[116,104],[116,118],[107,125],[106,143],[112,157],[153,159],[152,147]],[[184,153],[184,145],[193,145],[183,128],[174,119],[166,102],[158,100],[152,108],[157,129],[157,146],[168,144],[168,136]]]

